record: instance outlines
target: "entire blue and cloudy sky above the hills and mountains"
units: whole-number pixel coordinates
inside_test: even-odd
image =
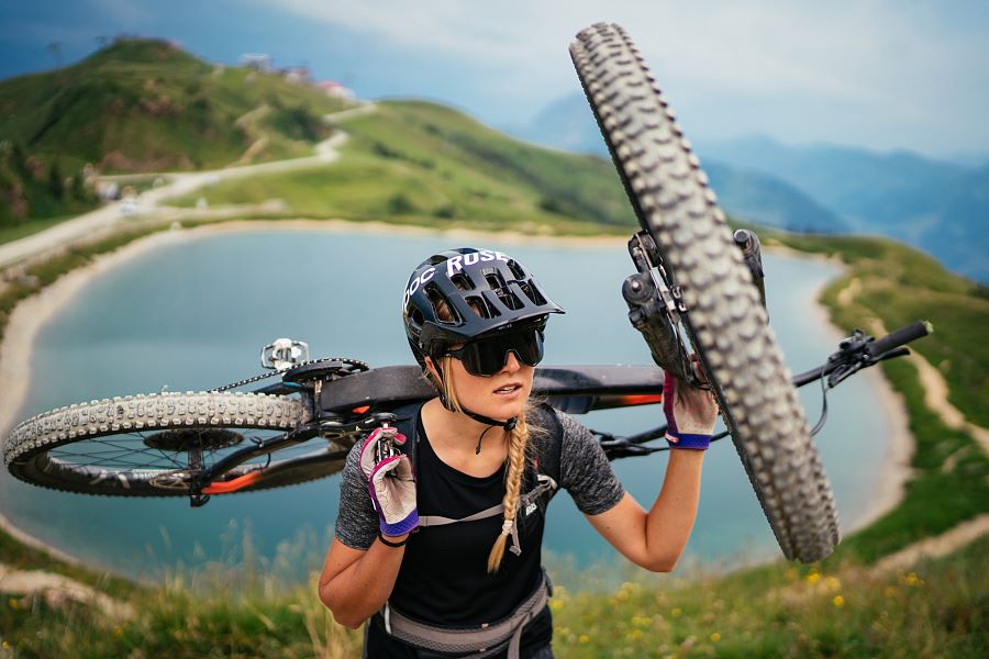
[[[598,21],[626,29],[694,142],[989,157],[985,0],[0,0],[0,78],[158,36],[518,127],[579,92],[567,46]]]

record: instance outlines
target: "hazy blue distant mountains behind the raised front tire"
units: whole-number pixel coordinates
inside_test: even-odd
[[[604,153],[581,93],[546,107],[522,137]],[[722,205],[732,214],[793,231],[884,234],[989,281],[989,164],[934,160],[898,150],[789,146],[753,136],[705,143],[692,136]],[[970,158],[968,161],[979,161]]]

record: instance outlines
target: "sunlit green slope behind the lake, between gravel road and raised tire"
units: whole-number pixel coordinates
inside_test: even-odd
[[[332,166],[224,182],[202,196],[211,204],[280,199],[292,216],[441,227],[624,233],[635,224],[610,163],[518,142],[442,105],[380,103],[343,127],[351,139]]]

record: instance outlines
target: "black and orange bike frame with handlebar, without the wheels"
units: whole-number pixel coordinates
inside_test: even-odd
[[[901,346],[930,331],[930,324],[914,323],[875,340],[856,330],[841,342],[838,350],[824,365],[793,377],[793,384],[803,387],[826,378],[827,389],[834,388],[863,368],[909,354],[909,349]],[[326,462],[345,459],[359,436],[395,421],[393,410],[409,403],[425,402],[436,395],[418,366],[388,366],[346,376],[340,372],[332,360],[329,365],[305,364],[286,370],[280,381],[256,389],[256,393],[301,394],[309,410],[308,421],[284,435],[235,451],[200,471],[190,490],[191,504],[203,505],[211,494],[237,492],[263,478],[277,478],[281,469],[319,468]],[[533,394],[563,412],[584,414],[594,410],[660,403],[663,380],[664,371],[655,366],[537,367]],[[642,446],[665,436],[666,425],[626,437],[592,432],[612,460],[666,450],[666,447]],[[713,440],[727,435],[729,432],[721,433]],[[343,448],[297,457],[284,466],[273,465],[231,480],[222,479],[223,474],[248,460],[315,437],[333,440]]]

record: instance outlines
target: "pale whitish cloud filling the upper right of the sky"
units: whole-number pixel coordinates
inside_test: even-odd
[[[603,19],[629,30],[660,85],[676,91],[675,105],[677,99],[689,105],[748,98],[759,107],[799,99],[801,107],[821,104],[813,121],[832,108],[904,130],[955,108],[979,131],[976,118],[989,113],[989,12],[978,2],[957,2],[947,12],[940,3],[893,0],[254,1],[470,63],[519,99],[573,91],[566,45]]]

